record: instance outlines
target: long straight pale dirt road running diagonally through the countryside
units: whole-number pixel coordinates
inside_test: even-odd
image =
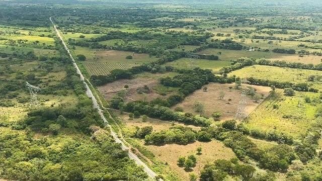
[[[88,97],[89,98],[91,98],[92,99],[92,101],[93,101],[93,106],[94,106],[94,108],[96,108],[97,110],[98,110],[98,113],[100,114],[100,116],[101,116],[101,118],[103,119],[103,121],[109,126],[109,128],[110,128],[110,131],[111,131],[111,135],[113,136],[113,138],[114,138],[114,140],[115,140],[115,142],[117,142],[117,143],[120,143],[121,144],[121,147],[122,147],[122,149],[123,150],[129,150],[129,148],[127,147],[127,146],[125,146],[125,144],[117,137],[117,135],[116,135],[116,133],[113,131],[113,129],[112,129],[112,127],[111,127],[111,125],[109,125],[108,124],[108,121],[107,121],[107,119],[105,118],[105,116],[104,116],[104,114],[103,114],[103,110],[101,110],[101,108],[100,108],[100,106],[99,106],[99,104],[97,103],[97,100],[96,100],[96,98],[95,98],[95,96],[93,95],[93,93],[92,93],[92,91],[91,91],[91,89],[90,89],[90,87],[88,86],[88,84],[87,84],[87,82],[85,81],[85,78],[84,78],[84,76],[83,76],[83,74],[82,74],[82,72],[81,72],[81,70],[79,70],[79,68],[78,68],[78,66],[77,66],[77,64],[76,64],[76,62],[75,62],[75,60],[74,60],[74,58],[72,57],[72,55],[71,55],[71,53],[69,52],[69,49],[68,49],[68,47],[66,46],[66,44],[65,44],[65,42],[64,42],[64,40],[62,39],[62,37],[61,37],[61,35],[60,35],[60,33],[59,33],[59,31],[58,31],[58,29],[56,28],[56,25],[54,24],[54,22],[52,21],[52,19],[51,19],[51,17],[49,18],[49,20],[50,20],[50,22],[53,24],[53,26],[54,26],[54,29],[55,29],[55,32],[56,32],[56,34],[57,34],[57,36],[59,37],[59,39],[61,40],[61,42],[62,42],[62,44],[63,44],[63,46],[64,46],[64,48],[65,48],[65,50],[67,51],[67,53],[68,53],[68,55],[69,55],[69,57],[70,57],[70,59],[72,60],[72,64],[73,64],[73,66],[76,68],[76,72],[77,72],[77,74],[79,74],[79,76],[81,77],[81,79],[82,79],[82,81],[83,81],[83,83],[85,84],[85,86],[86,86],[86,94],[88,95]],[[143,161],[141,161],[134,153],[132,153],[130,150],[129,150],[129,152],[128,152],[128,154],[129,154],[129,157],[131,158],[131,159],[133,159],[135,162],[136,162],[136,164],[138,164],[139,166],[142,166],[143,167],[143,169],[144,169],[144,171],[147,173],[147,175],[148,176],[150,176],[150,177],[152,177],[152,178],[155,178],[155,176],[157,176],[157,174],[154,172],[154,171],[152,171]],[[163,181],[163,179],[159,179],[159,181]]]

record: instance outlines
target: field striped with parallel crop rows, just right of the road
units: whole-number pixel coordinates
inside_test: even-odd
[[[115,69],[128,69],[134,65],[124,63],[87,62],[85,66],[91,75],[107,75]]]

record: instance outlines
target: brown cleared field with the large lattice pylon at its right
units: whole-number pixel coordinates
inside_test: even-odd
[[[173,108],[180,106],[183,108],[184,112],[198,114],[194,111],[194,103],[200,102],[205,106],[205,113],[203,115],[210,117],[214,111],[218,111],[222,114],[220,120],[233,119],[235,111],[237,110],[237,106],[239,104],[241,91],[234,88],[229,90],[229,86],[233,87],[234,84],[209,83],[209,85],[206,86],[208,87],[207,92],[203,92],[202,89],[199,89],[192,95],[188,96],[182,103],[174,106]],[[269,92],[271,90],[270,87],[256,85],[250,86],[256,88],[257,93],[263,94],[264,98],[269,95]],[[223,92],[225,94],[222,100],[218,99],[220,92]],[[229,104],[228,99],[231,99]],[[252,100],[250,97],[247,97],[247,115],[254,111],[262,101],[263,99],[258,101],[258,103],[255,103],[254,100]]]

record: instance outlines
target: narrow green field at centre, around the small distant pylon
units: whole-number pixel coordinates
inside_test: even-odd
[[[192,62],[191,62],[192,60]],[[220,61],[220,60],[206,60],[206,59],[190,59],[190,58],[180,58],[173,62],[167,63],[167,65],[174,66],[176,68],[186,68],[193,69],[194,67],[200,67],[202,69],[212,69],[218,71],[220,68],[229,66],[231,62]]]

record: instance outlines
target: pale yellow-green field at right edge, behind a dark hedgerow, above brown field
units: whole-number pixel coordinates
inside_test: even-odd
[[[232,71],[229,75],[236,75],[241,78],[254,77],[276,81],[288,81],[294,83],[307,82],[309,75],[321,75],[322,71],[302,70],[295,68],[280,68],[275,66],[254,65]],[[321,82],[307,82],[312,87],[320,88]]]

